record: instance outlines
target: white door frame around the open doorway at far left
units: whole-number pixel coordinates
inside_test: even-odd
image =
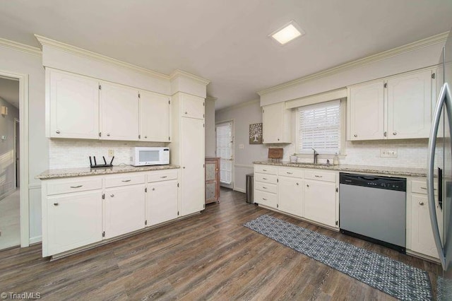
[[[28,74],[0,70],[0,77],[12,78],[19,81],[20,247],[28,247],[30,245],[30,201],[28,197]],[[14,144],[14,148],[16,148],[16,142]]]

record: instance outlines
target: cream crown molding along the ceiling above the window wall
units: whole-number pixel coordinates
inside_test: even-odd
[[[295,79],[293,81],[288,81],[287,83],[282,83],[280,85],[275,85],[275,86],[273,86],[271,88],[260,90],[260,91],[257,92],[257,94],[259,96],[265,95],[265,94],[270,93],[270,92],[274,92],[274,91],[277,91],[277,90],[282,90],[284,88],[288,88],[288,87],[290,87],[292,85],[297,85],[299,83],[303,83],[304,81],[311,81],[311,80],[316,79],[316,78],[321,78],[321,77],[324,77],[324,76],[332,75],[334,73],[343,72],[343,71],[345,71],[347,69],[353,69],[353,68],[357,68],[359,66],[364,66],[364,65],[367,65],[367,64],[374,63],[375,61],[381,61],[382,59],[388,59],[390,57],[395,57],[396,55],[403,54],[405,52],[412,52],[414,50],[421,49],[421,48],[424,48],[424,47],[428,47],[430,45],[435,45],[435,44],[438,44],[438,43],[441,43],[441,42],[446,42],[448,34],[449,34],[449,32],[440,33],[438,35],[433,35],[432,37],[427,37],[425,39],[422,39],[422,40],[419,40],[419,41],[416,41],[416,42],[412,42],[412,43],[407,44],[407,45],[403,45],[403,46],[400,46],[400,47],[389,49],[389,50],[386,50],[384,52],[379,52],[377,54],[373,54],[373,55],[371,55],[369,57],[364,57],[362,59],[357,59],[355,61],[350,61],[348,63],[342,64],[342,65],[339,65],[339,66],[335,66],[335,67],[333,67],[331,69],[326,69],[326,70],[323,70],[323,71],[320,71],[320,72],[317,72],[317,73],[310,74],[309,76],[303,76],[303,77],[297,78],[297,79]]]

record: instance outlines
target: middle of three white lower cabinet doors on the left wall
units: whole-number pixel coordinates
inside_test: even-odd
[[[105,190],[105,238],[144,228],[145,186],[131,185]]]

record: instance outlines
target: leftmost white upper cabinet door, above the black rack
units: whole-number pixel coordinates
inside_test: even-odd
[[[99,82],[47,69],[50,137],[99,138]]]

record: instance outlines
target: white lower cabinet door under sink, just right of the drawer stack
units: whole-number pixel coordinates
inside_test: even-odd
[[[293,177],[279,177],[278,208],[295,216],[303,216],[303,180]]]

